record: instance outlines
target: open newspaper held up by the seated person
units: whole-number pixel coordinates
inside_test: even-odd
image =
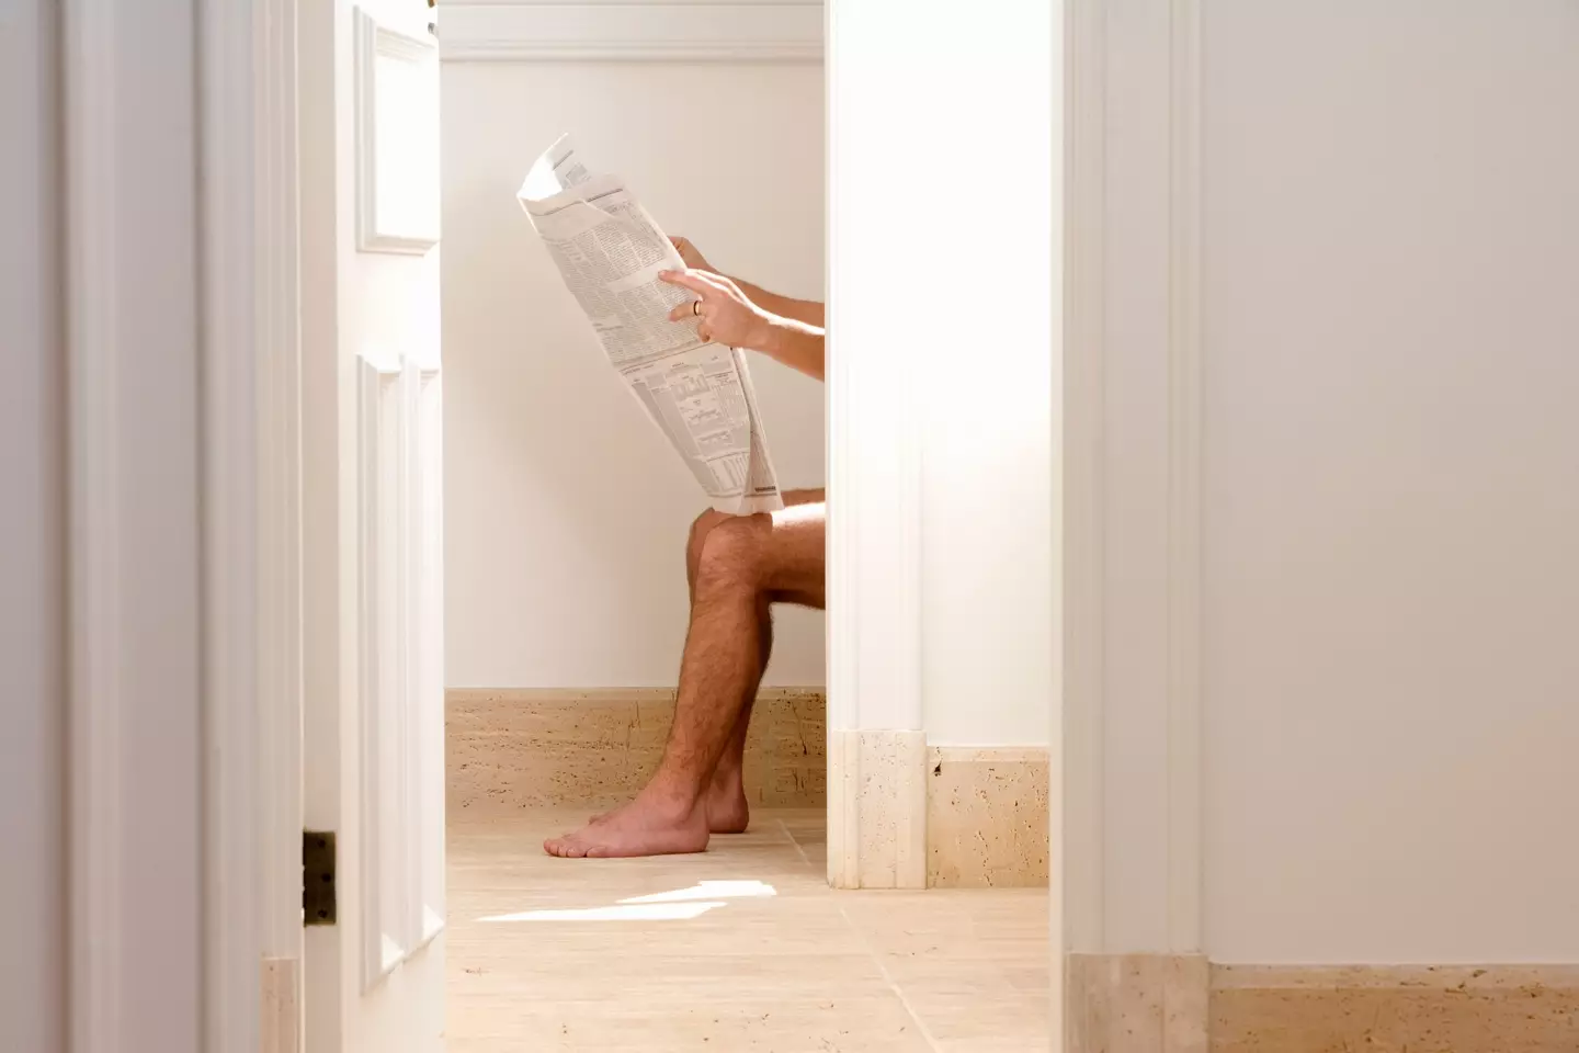
[[[518,194],[609,363],[718,512],[783,508],[756,392],[739,349],[707,344],[669,311],[693,297],[658,281],[685,267],[624,180],[594,174],[562,136]]]

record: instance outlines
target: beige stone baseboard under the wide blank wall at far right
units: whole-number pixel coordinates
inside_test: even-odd
[[[1579,965],[1219,965],[1211,1050],[1579,1050]]]

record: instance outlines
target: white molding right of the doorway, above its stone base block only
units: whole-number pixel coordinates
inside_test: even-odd
[[[1066,950],[1075,955],[1145,950],[1191,958],[1203,946],[1202,11],[1200,0],[1156,0],[1146,5],[1143,19],[1110,22],[1099,0],[1067,0],[1063,911]],[[1118,33],[1129,36],[1113,39]],[[1138,39],[1143,33],[1150,36]],[[1110,66],[1108,57],[1115,54],[1123,62]],[[1137,54],[1156,55],[1157,62],[1142,66]],[[1126,155],[1116,155],[1108,144],[1107,101],[1115,96],[1129,107],[1123,114]],[[1143,107],[1137,107],[1137,98],[1145,101]],[[1138,150],[1137,142],[1145,148]],[[1142,172],[1134,163],[1137,153],[1165,156],[1167,167]],[[1127,167],[1116,171],[1115,156],[1127,161]],[[1165,317],[1148,319],[1156,324],[1146,327],[1148,333],[1162,333],[1162,344],[1110,347],[1108,305],[1127,303],[1134,289],[1118,287],[1124,275],[1108,267],[1113,237],[1108,216],[1123,216],[1132,202],[1157,196],[1165,196],[1167,221],[1148,227],[1142,242],[1131,230],[1126,251],[1165,264],[1165,298],[1156,298]],[[1127,328],[1126,338],[1134,339],[1134,328]],[[1108,376],[1110,358],[1118,354],[1145,354],[1146,363],[1165,366],[1165,403],[1159,399],[1156,417],[1137,422],[1134,392],[1113,387],[1124,384],[1121,373]],[[1134,362],[1126,368],[1132,374]],[[1108,418],[1110,404],[1124,406],[1124,426],[1131,429],[1113,445],[1108,433],[1120,422]],[[1137,442],[1146,447],[1137,448]],[[1148,507],[1165,508],[1165,530],[1157,538],[1165,551],[1153,564],[1162,573],[1156,581],[1148,579],[1143,592],[1131,583],[1126,611],[1116,605],[1110,609],[1107,571],[1135,556],[1115,545],[1137,543],[1112,521],[1124,515],[1121,507],[1108,505],[1110,458],[1118,450],[1165,464],[1154,488],[1146,477],[1148,489],[1142,494]],[[1134,477],[1127,485],[1127,499],[1134,502]],[[1140,556],[1151,560],[1154,553],[1146,549]],[[1148,680],[1157,684],[1159,696],[1145,699],[1145,714],[1167,725],[1164,750],[1146,769],[1148,778],[1156,777],[1165,786],[1165,794],[1146,805],[1143,829],[1134,823],[1110,827],[1104,785],[1115,740],[1121,742],[1126,729],[1108,726],[1107,669],[1113,661],[1108,639],[1131,639],[1137,617],[1162,627],[1156,647],[1124,660],[1162,663]],[[1126,747],[1121,742],[1118,748]],[[1165,873],[1146,875],[1145,881],[1113,873],[1115,860],[1129,865],[1126,860],[1142,854],[1165,859]],[[1120,895],[1129,901],[1116,901]],[[1148,930],[1156,946],[1112,947],[1107,919],[1140,906],[1165,917],[1156,933]]]

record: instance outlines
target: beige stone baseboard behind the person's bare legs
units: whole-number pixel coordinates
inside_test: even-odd
[[[450,690],[448,810],[603,808],[652,775],[674,720],[673,688]],[[823,688],[763,688],[745,747],[753,805],[826,804]]]

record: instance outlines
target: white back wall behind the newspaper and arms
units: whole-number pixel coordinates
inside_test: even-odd
[[[564,131],[717,267],[823,295],[820,66],[445,63],[452,687],[671,685],[679,669],[682,554],[704,502],[515,200]],[[821,486],[821,385],[759,358],[752,371],[780,477]],[[823,684],[820,614],[780,613],[767,677]]]

